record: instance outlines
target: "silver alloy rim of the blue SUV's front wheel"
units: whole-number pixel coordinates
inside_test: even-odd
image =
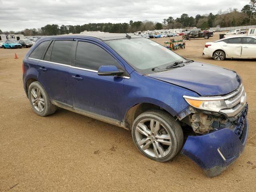
[[[159,121],[148,118],[141,120],[135,129],[138,146],[149,156],[163,158],[172,148],[171,136]]]

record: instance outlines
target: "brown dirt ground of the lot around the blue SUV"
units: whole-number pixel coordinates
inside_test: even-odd
[[[256,191],[256,60],[202,57],[205,42],[217,39],[218,33],[209,40],[190,40],[186,49],[176,51],[243,78],[248,141],[242,156],[215,178],[207,178],[180,154],[166,163],[142,156],[131,132],[122,128],[63,109],[37,116],[22,87],[22,58],[28,49],[0,49],[0,192]],[[163,44],[169,38],[155,40]]]

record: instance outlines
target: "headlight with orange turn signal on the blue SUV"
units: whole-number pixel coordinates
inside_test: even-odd
[[[190,96],[183,96],[183,98],[191,106],[202,110],[219,112],[220,110],[227,108],[223,99],[218,100],[218,98],[200,98]]]

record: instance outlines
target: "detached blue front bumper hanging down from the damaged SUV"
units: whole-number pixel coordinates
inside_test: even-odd
[[[208,177],[218,176],[244,150],[248,136],[247,111],[248,106],[238,118],[235,130],[223,128],[202,136],[188,136],[181,154],[196,162]]]

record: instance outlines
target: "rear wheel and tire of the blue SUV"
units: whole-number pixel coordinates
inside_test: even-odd
[[[57,107],[51,103],[50,97],[42,84],[32,82],[28,88],[28,98],[34,112],[40,116],[48,116],[55,113]]]

